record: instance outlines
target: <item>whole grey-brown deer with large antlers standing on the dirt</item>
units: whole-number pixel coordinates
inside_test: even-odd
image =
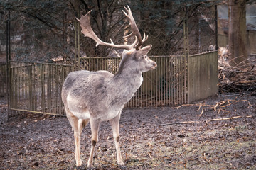
[[[110,43],[100,40],[90,26],[91,11],[85,16],[82,15],[81,11],[80,19],[76,18],[80,22],[82,34],[95,40],[96,46],[105,45],[123,50],[122,60],[116,74],[104,70],[97,72],[80,70],[70,72],[63,83],[61,97],[66,116],[74,131],[77,169],[82,167],[80,135],[83,128],[90,122],[92,137],[87,168],[92,169],[93,154],[95,145],[98,142],[100,123],[105,121],[109,121],[112,127],[117,164],[121,169],[125,169],[126,166],[124,166],[119,145],[121,111],[125,103],[134,96],[137,89],[142,85],[142,73],[157,67],[156,62],[147,56],[152,45],[142,47],[148,36],[144,33],[144,38],[142,38],[129,6],[124,7],[124,10],[122,11],[129,19],[129,25],[132,29],[132,33],[124,36],[124,38],[134,37],[134,42],[131,45],[116,45],[111,39]]]

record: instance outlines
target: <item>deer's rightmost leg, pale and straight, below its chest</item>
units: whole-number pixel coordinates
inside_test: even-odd
[[[114,137],[114,144],[117,150],[117,164],[120,166],[121,169],[124,169],[124,162],[122,160],[122,155],[120,152],[120,145],[119,145],[119,120],[120,120],[121,112],[117,115],[117,117],[110,120],[110,124],[113,130],[113,137]]]

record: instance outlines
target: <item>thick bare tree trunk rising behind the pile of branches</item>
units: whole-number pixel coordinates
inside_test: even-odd
[[[246,0],[229,0],[228,6],[230,65],[237,66],[247,60]]]

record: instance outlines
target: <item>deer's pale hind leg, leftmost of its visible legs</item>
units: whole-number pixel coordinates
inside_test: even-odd
[[[75,117],[75,115],[73,115],[73,113],[71,113],[68,108],[66,108],[65,110],[66,110],[67,118],[70,122],[70,125],[74,130],[76,166],[82,166],[82,159],[80,157],[80,135],[81,135],[82,129],[85,127],[85,125],[87,125],[89,120],[81,120]]]

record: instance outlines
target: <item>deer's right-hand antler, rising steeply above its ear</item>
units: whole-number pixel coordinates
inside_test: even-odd
[[[129,8],[129,6],[127,6],[127,8],[124,6],[124,9],[125,9],[125,11],[127,12],[125,12],[124,10],[122,10],[123,11],[123,13],[124,13],[124,15],[125,16],[127,16],[127,18],[129,18],[129,24],[130,24],[130,26],[131,26],[131,28],[132,28],[132,33],[130,33],[129,35],[126,35],[126,36],[124,36],[124,38],[129,38],[129,37],[131,37],[132,35],[135,35],[137,38],[138,38],[138,44],[135,46],[135,48],[136,48],[136,50],[139,50],[139,48],[142,46],[142,43],[147,39],[147,38],[145,38],[145,40],[143,41],[142,40],[142,35],[139,33],[139,29],[138,29],[138,27],[137,27],[137,25],[136,25],[136,23],[135,23],[135,21],[134,21],[134,18],[133,18],[133,16],[132,16],[132,11],[131,11],[131,8]]]

